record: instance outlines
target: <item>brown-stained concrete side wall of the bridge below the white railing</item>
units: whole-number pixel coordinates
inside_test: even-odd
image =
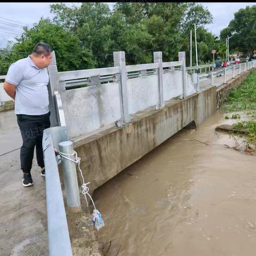
[[[84,177],[91,181],[90,190],[103,185],[192,121],[201,124],[251,71],[230,79],[221,88],[210,86],[186,99],[166,101],[162,109],[148,108],[136,113],[124,127],[111,127],[76,140],[74,147],[82,158]]]

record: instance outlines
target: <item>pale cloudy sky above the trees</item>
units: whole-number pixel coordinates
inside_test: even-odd
[[[53,3],[0,3],[0,49],[6,46],[8,40],[15,41],[14,34],[20,34],[23,23],[32,26],[41,17],[50,19],[50,5]],[[81,5],[81,3],[65,3],[68,6]],[[112,9],[115,3],[109,4]],[[234,13],[245,6],[256,5],[255,3],[200,3],[212,13],[213,23],[205,28],[214,35],[219,36],[221,29],[226,28],[234,18]],[[21,22],[21,23],[18,23]],[[10,25],[11,24],[11,25]],[[15,26],[18,25],[18,26]],[[12,30],[10,30],[12,29]],[[10,34],[13,33],[13,34]]]

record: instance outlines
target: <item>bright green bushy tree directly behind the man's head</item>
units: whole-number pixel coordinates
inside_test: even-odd
[[[49,44],[55,51],[59,71],[94,67],[92,53],[80,43],[79,38],[63,27],[52,24],[49,19],[41,19],[31,29],[25,28],[12,51],[31,53],[38,42]]]

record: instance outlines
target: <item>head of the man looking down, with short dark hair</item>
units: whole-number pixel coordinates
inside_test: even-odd
[[[38,68],[47,68],[52,60],[51,46],[45,43],[38,43],[32,52],[32,59]]]

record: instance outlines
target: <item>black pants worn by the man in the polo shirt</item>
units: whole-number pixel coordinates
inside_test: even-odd
[[[30,173],[34,150],[36,146],[37,164],[43,168],[43,131],[51,126],[50,111],[45,115],[17,115],[17,122],[20,127],[22,137],[22,147],[20,149],[20,163],[23,173]]]

